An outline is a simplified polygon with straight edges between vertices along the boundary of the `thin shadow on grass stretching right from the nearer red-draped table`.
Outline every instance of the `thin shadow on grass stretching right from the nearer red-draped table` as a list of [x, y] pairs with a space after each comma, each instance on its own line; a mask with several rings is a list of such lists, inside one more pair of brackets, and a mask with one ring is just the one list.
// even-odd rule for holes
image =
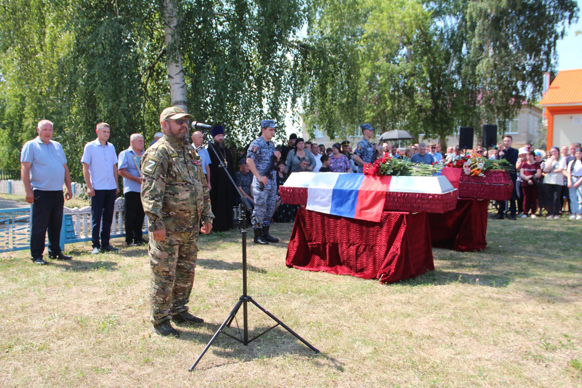
[[423, 275], [414, 277], [414, 279], [405, 279], [396, 284], [409, 286], [426, 286], [431, 284], [443, 286], [450, 283], [464, 283], [488, 287], [507, 287], [512, 280], [513, 277], [507, 275], [474, 275], [471, 273], [450, 272], [435, 269], [427, 271], [423, 273]]

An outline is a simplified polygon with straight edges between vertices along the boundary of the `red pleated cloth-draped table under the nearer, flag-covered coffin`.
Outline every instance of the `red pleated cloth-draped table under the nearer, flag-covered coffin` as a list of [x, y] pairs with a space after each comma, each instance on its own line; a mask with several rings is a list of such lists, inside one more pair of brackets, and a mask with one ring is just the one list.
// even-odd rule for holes
[[427, 213], [384, 211], [370, 222], [300, 207], [286, 264], [381, 283], [421, 275], [434, 270]]

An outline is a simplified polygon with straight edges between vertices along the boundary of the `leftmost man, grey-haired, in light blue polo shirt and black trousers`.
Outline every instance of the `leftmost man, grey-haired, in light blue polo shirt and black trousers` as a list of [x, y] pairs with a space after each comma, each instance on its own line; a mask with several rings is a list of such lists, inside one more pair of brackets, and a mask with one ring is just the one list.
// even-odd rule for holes
[[42, 259], [44, 237], [48, 232], [48, 255], [70, 260], [61, 251], [63, 222], [63, 183], [66, 198], [72, 198], [71, 178], [63, 147], [51, 140], [53, 130], [49, 120], [40, 120], [38, 137], [27, 141], [20, 152], [20, 177], [26, 190], [26, 202], [33, 204], [30, 227], [30, 254], [34, 264], [48, 264]]

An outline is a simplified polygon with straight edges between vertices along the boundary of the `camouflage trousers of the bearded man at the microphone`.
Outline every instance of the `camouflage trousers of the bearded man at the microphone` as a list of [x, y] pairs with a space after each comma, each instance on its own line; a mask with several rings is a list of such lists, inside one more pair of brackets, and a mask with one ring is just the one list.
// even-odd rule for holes
[[198, 229], [166, 232], [164, 241], [154, 241], [152, 232], [149, 234], [151, 322], [160, 323], [188, 309], [186, 304], [196, 269]]

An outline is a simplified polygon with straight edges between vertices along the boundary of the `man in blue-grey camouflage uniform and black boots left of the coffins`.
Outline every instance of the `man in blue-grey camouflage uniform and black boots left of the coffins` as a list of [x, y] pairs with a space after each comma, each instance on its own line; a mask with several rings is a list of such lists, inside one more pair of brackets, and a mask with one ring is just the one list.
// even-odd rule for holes
[[[254, 175], [251, 184], [255, 201], [254, 213], [262, 221], [262, 228], [253, 226], [255, 244], [279, 242], [279, 239], [269, 234], [277, 196], [276, 168], [271, 170], [269, 176], [263, 175], [271, 165], [272, 155], [275, 155], [277, 161], [281, 158], [281, 152], [275, 150], [275, 144], [271, 141], [276, 127], [273, 120], [261, 120], [261, 136], [251, 142], [247, 151], [247, 164]], [[260, 182], [265, 185], [262, 191], [259, 190]]]

